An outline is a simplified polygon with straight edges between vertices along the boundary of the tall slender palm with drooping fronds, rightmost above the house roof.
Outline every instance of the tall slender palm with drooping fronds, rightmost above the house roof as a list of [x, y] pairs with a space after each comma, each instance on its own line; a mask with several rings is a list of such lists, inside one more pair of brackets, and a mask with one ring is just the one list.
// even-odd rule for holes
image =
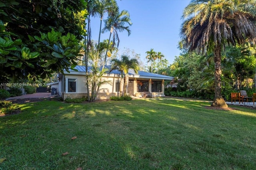
[[[110, 7], [110, 10], [108, 10], [108, 18], [105, 20], [105, 27], [102, 29], [102, 33], [107, 31], [110, 32], [108, 42], [110, 42], [110, 38], [113, 34], [113, 46], [116, 45], [116, 41], [117, 47], [119, 46], [120, 40], [118, 37], [118, 32], [123, 32], [126, 30], [128, 32], [128, 36], [130, 36], [131, 30], [129, 26], [125, 26], [126, 24], [129, 26], [132, 25], [129, 12], [127, 10], [122, 10], [120, 13], [116, 1], [112, 0], [112, 6]], [[106, 50], [104, 61], [106, 61], [107, 53], [108, 49]]]

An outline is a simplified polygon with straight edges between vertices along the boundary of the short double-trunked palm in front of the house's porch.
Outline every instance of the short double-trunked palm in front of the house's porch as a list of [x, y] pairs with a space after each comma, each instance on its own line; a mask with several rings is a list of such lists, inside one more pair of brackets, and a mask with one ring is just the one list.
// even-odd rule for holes
[[129, 81], [129, 75], [128, 71], [129, 69], [133, 69], [135, 73], [138, 73], [138, 60], [133, 58], [129, 59], [127, 55], [122, 55], [121, 59], [114, 58], [112, 59], [112, 67], [110, 71], [112, 70], [119, 70], [121, 72], [121, 82], [120, 82], [120, 93], [123, 96], [124, 95], [124, 75], [126, 77], [126, 91], [125, 93], [128, 93], [128, 81]]

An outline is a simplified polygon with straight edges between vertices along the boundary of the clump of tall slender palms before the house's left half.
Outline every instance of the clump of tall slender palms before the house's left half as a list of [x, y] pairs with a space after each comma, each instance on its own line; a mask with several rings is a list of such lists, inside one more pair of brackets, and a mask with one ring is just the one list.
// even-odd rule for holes
[[[104, 81], [102, 76], [108, 71], [108, 69], [105, 68], [105, 65], [108, 63], [108, 57], [111, 57], [112, 53], [116, 51], [116, 47], [118, 47], [120, 43], [118, 32], [127, 31], [129, 36], [131, 33], [129, 26], [132, 25], [132, 22], [128, 11], [122, 10], [120, 12], [116, 0], [89, 0], [87, 10], [89, 12], [87, 20], [88, 35], [86, 36], [84, 51], [86, 87], [87, 91], [90, 91], [91, 89], [91, 94], [87, 94], [87, 99], [88, 101], [95, 101], [97, 99], [100, 86], [105, 83], [109, 83]], [[91, 40], [91, 16], [100, 17], [100, 30], [97, 44], [92, 43]], [[106, 16], [105, 20], [104, 16]], [[103, 28], [102, 21], [104, 21]], [[126, 24], [129, 26], [126, 26]], [[106, 32], [110, 32], [109, 39], [100, 42], [101, 34]], [[89, 67], [90, 72], [88, 71]]]

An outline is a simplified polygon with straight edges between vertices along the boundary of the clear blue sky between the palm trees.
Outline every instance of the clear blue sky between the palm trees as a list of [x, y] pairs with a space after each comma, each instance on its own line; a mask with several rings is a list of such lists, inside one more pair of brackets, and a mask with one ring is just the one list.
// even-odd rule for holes
[[[152, 48], [164, 54], [164, 59], [172, 64], [175, 56], [180, 55], [178, 42], [183, 22], [181, 16], [189, 2], [190, 0], [117, 0], [120, 11], [127, 10], [132, 20], [130, 36], [127, 31], [118, 33], [120, 53], [124, 48], [134, 50], [146, 64], [146, 51]], [[97, 41], [100, 19], [92, 19], [91, 27], [92, 40]], [[109, 34], [102, 34], [101, 41], [108, 39]]]

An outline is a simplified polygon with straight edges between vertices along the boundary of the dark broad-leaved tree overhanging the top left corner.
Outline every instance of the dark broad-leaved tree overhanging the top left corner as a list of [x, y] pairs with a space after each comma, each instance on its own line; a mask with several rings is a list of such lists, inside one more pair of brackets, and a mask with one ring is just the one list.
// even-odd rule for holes
[[76, 65], [86, 2], [2, 0], [0, 6], [1, 77], [44, 78]]

